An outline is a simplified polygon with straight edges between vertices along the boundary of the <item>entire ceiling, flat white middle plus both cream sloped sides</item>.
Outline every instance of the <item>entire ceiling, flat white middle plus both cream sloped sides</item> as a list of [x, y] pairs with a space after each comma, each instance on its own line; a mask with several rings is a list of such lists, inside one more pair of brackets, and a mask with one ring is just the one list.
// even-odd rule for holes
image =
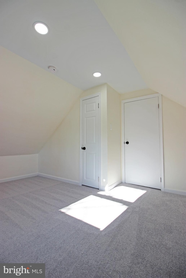
[[38, 153], [82, 90], [103, 83], [186, 106], [185, 14], [185, 0], [0, 0], [0, 156]]

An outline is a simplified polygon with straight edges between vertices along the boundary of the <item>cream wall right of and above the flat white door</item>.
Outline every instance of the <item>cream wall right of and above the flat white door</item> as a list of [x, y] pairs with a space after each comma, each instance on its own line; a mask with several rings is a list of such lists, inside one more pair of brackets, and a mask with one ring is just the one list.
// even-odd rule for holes
[[[155, 94], [151, 89], [129, 92], [121, 100]], [[164, 187], [186, 191], [186, 108], [162, 96]]]

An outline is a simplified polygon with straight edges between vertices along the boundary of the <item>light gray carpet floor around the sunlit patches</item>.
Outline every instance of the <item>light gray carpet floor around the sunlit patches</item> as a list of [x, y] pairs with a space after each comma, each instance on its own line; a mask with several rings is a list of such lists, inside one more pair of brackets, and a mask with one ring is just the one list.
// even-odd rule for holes
[[[142, 186], [135, 202], [43, 177], [0, 184], [1, 263], [45, 263], [47, 278], [186, 277], [186, 197]], [[128, 209], [104, 230], [59, 209], [94, 195]]]

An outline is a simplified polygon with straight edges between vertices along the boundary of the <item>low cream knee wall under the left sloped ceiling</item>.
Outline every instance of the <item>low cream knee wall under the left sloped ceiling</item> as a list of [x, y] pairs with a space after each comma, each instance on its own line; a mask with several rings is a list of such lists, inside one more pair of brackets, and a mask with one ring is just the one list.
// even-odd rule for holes
[[38, 154], [0, 156], [0, 180], [38, 172]]

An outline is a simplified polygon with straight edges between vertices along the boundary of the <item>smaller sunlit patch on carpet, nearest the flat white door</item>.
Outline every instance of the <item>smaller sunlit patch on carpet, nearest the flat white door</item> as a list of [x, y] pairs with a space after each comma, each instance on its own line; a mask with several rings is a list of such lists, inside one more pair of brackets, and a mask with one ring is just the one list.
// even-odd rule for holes
[[131, 188], [127, 186], [117, 186], [110, 191], [101, 191], [98, 194], [111, 196], [113, 198], [124, 200], [127, 202], [135, 202], [140, 196], [142, 196], [146, 190]]

